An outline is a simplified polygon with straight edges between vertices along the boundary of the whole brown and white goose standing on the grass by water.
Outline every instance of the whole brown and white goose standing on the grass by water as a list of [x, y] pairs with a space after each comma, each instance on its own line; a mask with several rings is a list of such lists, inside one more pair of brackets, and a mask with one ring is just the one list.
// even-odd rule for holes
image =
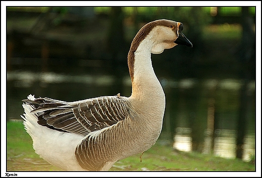
[[162, 130], [165, 94], [151, 53], [176, 45], [192, 47], [183, 24], [161, 19], [144, 25], [127, 55], [132, 94], [76, 102], [22, 100], [23, 124], [35, 152], [63, 170], [109, 170], [118, 160], [152, 147]]

